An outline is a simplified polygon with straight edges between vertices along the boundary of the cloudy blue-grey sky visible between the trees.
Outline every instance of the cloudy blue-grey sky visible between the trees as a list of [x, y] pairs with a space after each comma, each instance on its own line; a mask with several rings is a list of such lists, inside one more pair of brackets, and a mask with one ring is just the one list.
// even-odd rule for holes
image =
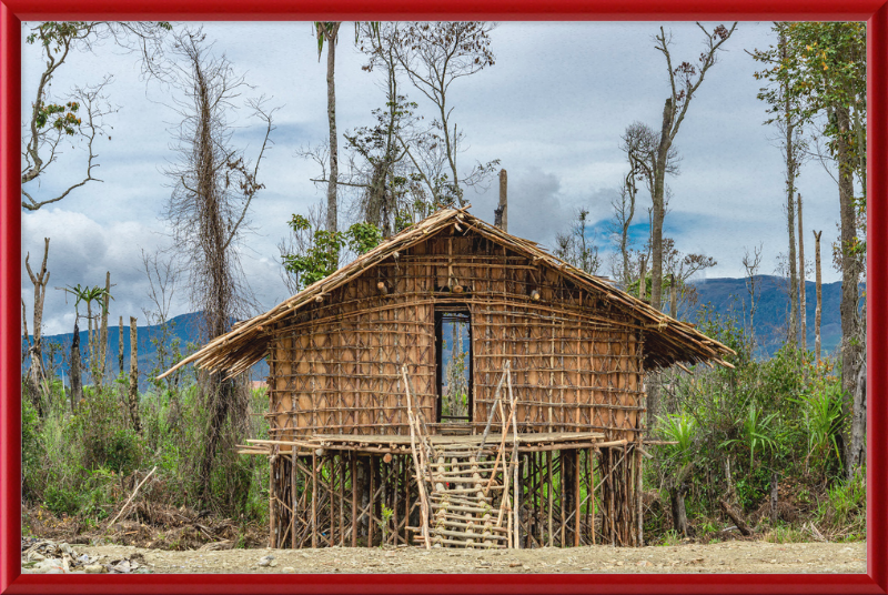
[[[712, 28], [714, 23], [709, 23]], [[22, 38], [31, 23], [23, 24]], [[673, 60], [696, 61], [703, 49], [694, 23], [666, 23], [673, 39]], [[464, 164], [500, 159], [508, 171], [509, 232], [551, 246], [555, 234], [569, 225], [579, 208], [593, 221], [591, 239], [607, 250], [610, 199], [626, 172], [618, 149], [625, 128], [634, 121], [658, 128], [668, 79], [663, 54], [654, 48], [657, 23], [513, 23], [492, 32], [495, 65], [452, 88], [453, 121], [467, 137]], [[371, 110], [384, 95], [377, 73], [362, 71], [363, 57], [352, 41], [353, 28], [343, 26], [337, 48], [336, 97], [340, 133], [372, 121]], [[324, 199], [310, 178], [316, 165], [296, 155], [301, 147], [327, 135], [325, 61], [319, 62], [310, 23], [209, 23], [209, 39], [254, 85], [248, 94], [265, 94], [275, 113], [274, 147], [263, 161], [265, 184], [253, 202], [253, 231], [241, 256], [248, 281], [263, 309], [287, 296], [281, 281], [276, 244], [286, 234], [293, 213], [305, 213]], [[784, 177], [776, 129], [763, 125], [765, 107], [756, 99], [760, 87], [753, 77], [757, 63], [746, 50], [764, 49], [775, 40], [769, 23], [741, 22], [725, 43], [719, 62], [707, 73], [682, 124], [676, 147], [680, 175], [668, 180], [673, 190], [666, 215], [666, 235], [685, 253], [705, 253], [718, 265], [709, 278], [743, 276], [745, 249], [764, 245], [761, 273], [773, 273], [779, 253], [787, 251]], [[39, 49], [22, 46], [22, 108], [33, 101], [42, 70]], [[179, 118], [170, 105], [170, 90], [140, 78], [138, 57], [112, 44], [71, 56], [52, 87], [57, 99], [75, 84], [113, 75], [107, 88], [119, 109], [105, 121], [111, 140], [97, 141], [103, 182], [72, 192], [63, 201], [37, 212], [22, 212], [22, 298], [31, 316], [33, 289], [24, 270], [42, 254], [42, 239], [51, 238], [44, 332], [70, 332], [73, 303], [52, 288], [104, 283], [111, 271], [111, 320], [139, 316], [149, 307], [141, 251], [168, 248], [163, 208], [170, 195], [163, 169], [174, 159], [171, 128]], [[404, 81], [411, 99], [428, 112], [418, 92]], [[412, 92], [411, 92], [412, 91]], [[23, 111], [23, 113], [24, 113]], [[262, 130], [236, 113], [234, 141], [248, 157], [259, 149]], [[39, 182], [37, 195], [50, 196], [82, 175], [85, 153], [74, 144]], [[39, 184], [39, 188], [34, 188]], [[839, 279], [829, 266], [828, 246], [837, 235], [838, 191], [817, 162], [808, 163], [799, 180], [805, 199], [807, 253], [813, 258], [810, 230], [823, 230], [824, 281]], [[472, 212], [493, 220], [496, 184], [468, 194]], [[646, 219], [649, 196], [640, 204]], [[347, 209], [343, 205], [341, 209]], [[605, 271], [606, 273], [606, 271]], [[180, 288], [172, 314], [192, 310]]]

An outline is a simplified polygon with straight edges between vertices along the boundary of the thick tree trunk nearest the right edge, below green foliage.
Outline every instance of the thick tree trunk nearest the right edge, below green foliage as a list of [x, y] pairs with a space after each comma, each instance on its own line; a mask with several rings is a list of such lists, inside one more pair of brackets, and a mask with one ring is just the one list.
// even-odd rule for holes
[[[859, 262], [852, 250], [857, 244], [857, 213], [854, 203], [854, 163], [850, 148], [848, 147], [848, 108], [835, 108], [839, 133], [836, 137], [839, 169], [839, 214], [841, 222], [841, 389], [846, 395], [842, 403], [845, 414], [852, 418], [852, 399], [857, 386], [858, 369], [860, 366], [861, 347], [857, 337], [857, 303], [859, 281]], [[851, 460], [850, 436], [848, 430], [842, 431], [842, 441], [846, 448], [846, 464], [849, 475], [854, 473], [856, 462]]]

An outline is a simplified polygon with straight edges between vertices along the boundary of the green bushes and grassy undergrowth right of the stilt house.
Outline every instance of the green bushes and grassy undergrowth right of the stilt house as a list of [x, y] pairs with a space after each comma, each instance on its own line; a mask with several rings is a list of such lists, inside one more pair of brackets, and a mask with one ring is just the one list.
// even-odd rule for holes
[[[769, 360], [751, 356], [737, 321], [700, 310], [698, 326], [737, 352], [730, 367], [667, 371], [659, 382], [667, 413], [653, 425], [646, 488], [659, 505], [645, 518], [648, 543], [676, 539], [664, 485], [685, 464], [690, 531], [712, 539], [733, 523], [719, 502], [737, 507], [760, 537], [776, 543], [866, 538], [866, 481], [846, 480], [838, 363], [785, 346]], [[771, 497], [776, 496], [776, 506]], [[814, 524], [815, 530], [808, 528]], [[670, 533], [672, 532], [672, 533]]]

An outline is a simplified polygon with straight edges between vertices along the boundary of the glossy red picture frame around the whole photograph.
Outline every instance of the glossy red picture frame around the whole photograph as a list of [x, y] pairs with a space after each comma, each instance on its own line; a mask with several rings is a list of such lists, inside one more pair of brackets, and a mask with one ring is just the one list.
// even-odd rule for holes
[[[868, 64], [867, 574], [22, 575], [21, 22], [24, 20], [858, 20]], [[888, 0], [0, 0], [0, 593], [886, 593]]]

